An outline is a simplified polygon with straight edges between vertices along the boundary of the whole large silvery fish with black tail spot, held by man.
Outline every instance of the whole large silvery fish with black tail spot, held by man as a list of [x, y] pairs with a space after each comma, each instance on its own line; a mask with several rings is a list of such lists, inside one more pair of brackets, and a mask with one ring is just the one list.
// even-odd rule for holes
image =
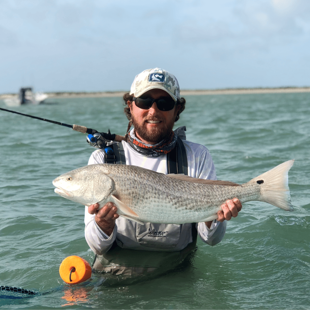
[[288, 171], [293, 163], [284, 162], [241, 185], [117, 164], [84, 166], [60, 175], [53, 184], [60, 196], [86, 206], [112, 201], [120, 216], [139, 223], [184, 224], [216, 219], [221, 205], [234, 197], [292, 211]]

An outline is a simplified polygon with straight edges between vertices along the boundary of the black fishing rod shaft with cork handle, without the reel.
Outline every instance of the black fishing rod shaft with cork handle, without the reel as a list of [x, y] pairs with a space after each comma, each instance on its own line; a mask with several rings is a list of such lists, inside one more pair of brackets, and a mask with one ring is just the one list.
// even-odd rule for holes
[[[61, 123], [61, 122], [51, 121], [49, 119], [42, 118], [42, 117], [37, 117], [37, 116], [33, 116], [33, 115], [29, 115], [29, 114], [24, 114], [24, 113], [12, 111], [12, 110], [7, 110], [7, 109], [4, 109], [4, 108], [0, 108], [0, 110], [7, 111], [7, 112], [10, 112], [10, 113], [19, 114], [19, 115], [23, 115], [23, 116], [27, 116], [27, 117], [31, 117], [31, 118], [36, 118], [36, 119], [39, 119], [40, 121], [50, 122], [50, 123], [53, 123], [53, 124], [56, 124], [56, 125], [66, 126], [66, 127], [72, 128], [75, 131], [82, 132], [83, 134], [88, 133], [90, 135], [94, 135], [95, 133], [99, 133], [95, 129], [87, 128], [85, 126], [74, 125], [74, 124], [73, 125], [69, 125], [69, 124], [65, 124], [65, 123]], [[111, 134], [110, 130], [108, 132], [100, 132], [100, 134], [106, 140], [117, 141], [117, 142], [121, 142], [122, 140], [124, 140], [123, 136], [116, 135], [116, 134]]]

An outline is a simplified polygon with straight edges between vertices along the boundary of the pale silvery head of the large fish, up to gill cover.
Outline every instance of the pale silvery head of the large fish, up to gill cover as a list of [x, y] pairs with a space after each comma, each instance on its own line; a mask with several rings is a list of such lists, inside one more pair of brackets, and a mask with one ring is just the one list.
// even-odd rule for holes
[[106, 199], [114, 189], [114, 181], [92, 166], [95, 165], [69, 171], [54, 179], [55, 193], [86, 206]]

